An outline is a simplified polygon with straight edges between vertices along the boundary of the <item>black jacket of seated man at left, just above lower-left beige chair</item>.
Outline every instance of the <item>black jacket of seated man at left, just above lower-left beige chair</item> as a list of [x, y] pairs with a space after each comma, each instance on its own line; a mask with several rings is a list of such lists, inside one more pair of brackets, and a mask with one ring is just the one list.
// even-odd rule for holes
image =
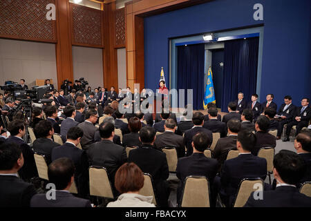
[[50, 164], [50, 162], [52, 162], [52, 151], [56, 146], [60, 146], [60, 144], [57, 144], [48, 138], [38, 138], [33, 142], [32, 148], [36, 153], [46, 155], [46, 164]]

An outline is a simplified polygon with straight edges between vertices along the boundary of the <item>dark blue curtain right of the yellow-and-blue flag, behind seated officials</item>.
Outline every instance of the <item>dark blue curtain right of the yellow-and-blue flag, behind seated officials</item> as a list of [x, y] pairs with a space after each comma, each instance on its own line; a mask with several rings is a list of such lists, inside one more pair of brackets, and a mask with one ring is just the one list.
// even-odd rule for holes
[[247, 102], [256, 93], [258, 42], [258, 37], [225, 41], [221, 111], [227, 112], [239, 92]]

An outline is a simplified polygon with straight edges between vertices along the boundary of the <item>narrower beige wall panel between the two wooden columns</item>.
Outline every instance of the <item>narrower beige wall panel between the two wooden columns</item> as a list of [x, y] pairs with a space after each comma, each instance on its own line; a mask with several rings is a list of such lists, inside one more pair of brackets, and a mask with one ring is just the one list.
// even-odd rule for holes
[[80, 77], [88, 81], [92, 90], [104, 84], [102, 49], [73, 46], [73, 79]]

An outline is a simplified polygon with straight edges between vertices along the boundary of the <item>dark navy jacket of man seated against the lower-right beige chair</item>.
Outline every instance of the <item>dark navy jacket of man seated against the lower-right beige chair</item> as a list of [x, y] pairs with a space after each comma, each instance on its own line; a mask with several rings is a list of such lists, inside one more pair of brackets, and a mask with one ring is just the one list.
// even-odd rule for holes
[[238, 157], [226, 160], [220, 178], [220, 195], [226, 206], [232, 206], [238, 185], [243, 178], [267, 176], [267, 161], [265, 158], [256, 157], [252, 154], [242, 154]]

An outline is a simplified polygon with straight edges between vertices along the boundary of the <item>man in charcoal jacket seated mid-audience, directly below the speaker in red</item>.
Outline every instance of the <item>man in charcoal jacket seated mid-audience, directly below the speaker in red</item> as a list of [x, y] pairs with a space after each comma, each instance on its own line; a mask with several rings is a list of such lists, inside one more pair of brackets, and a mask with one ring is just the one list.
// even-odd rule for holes
[[185, 156], [184, 137], [177, 135], [176, 122], [173, 119], [167, 119], [164, 123], [164, 133], [157, 136], [154, 146], [156, 148], [175, 147], [178, 157]]

